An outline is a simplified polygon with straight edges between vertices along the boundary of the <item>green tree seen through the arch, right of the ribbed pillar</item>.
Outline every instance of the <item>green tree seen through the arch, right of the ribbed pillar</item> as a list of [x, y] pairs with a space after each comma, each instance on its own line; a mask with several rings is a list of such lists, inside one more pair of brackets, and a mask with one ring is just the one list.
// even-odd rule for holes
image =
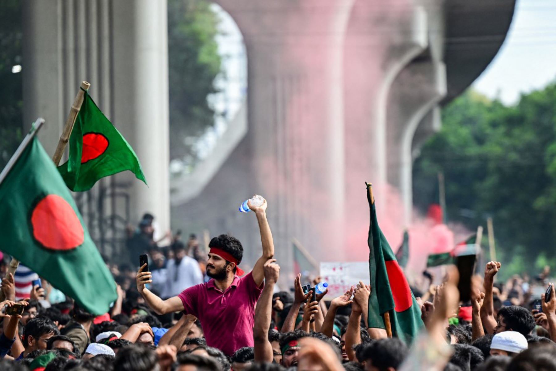
[[168, 0], [170, 157], [191, 154], [185, 138], [214, 123], [207, 96], [220, 72], [215, 36], [219, 19], [205, 0]]

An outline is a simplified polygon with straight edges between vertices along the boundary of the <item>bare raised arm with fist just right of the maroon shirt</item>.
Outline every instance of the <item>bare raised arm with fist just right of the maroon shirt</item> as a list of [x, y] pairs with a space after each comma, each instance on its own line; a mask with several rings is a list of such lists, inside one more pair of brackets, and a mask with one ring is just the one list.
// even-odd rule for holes
[[276, 259], [267, 260], [264, 265], [265, 288], [262, 289], [259, 301], [255, 308], [255, 327], [253, 338], [255, 340], [255, 363], [272, 363], [274, 352], [269, 342], [269, 329], [272, 317], [272, 294], [274, 285], [280, 276], [280, 266]]

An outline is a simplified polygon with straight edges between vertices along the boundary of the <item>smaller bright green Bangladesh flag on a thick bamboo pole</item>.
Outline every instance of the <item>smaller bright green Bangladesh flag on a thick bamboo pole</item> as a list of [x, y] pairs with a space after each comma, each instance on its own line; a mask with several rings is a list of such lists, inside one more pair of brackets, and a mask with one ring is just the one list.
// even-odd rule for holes
[[147, 184], [135, 152], [87, 92], [69, 137], [69, 159], [58, 170], [75, 192], [88, 191], [99, 179], [125, 170]]

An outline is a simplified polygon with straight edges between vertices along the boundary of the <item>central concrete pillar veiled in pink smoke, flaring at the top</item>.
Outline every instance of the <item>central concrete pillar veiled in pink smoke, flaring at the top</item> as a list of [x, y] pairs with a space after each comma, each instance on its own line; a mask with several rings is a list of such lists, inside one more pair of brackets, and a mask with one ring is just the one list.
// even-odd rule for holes
[[218, 3], [246, 44], [250, 182], [271, 202], [276, 244], [288, 247], [277, 255], [290, 258], [294, 236], [330, 255], [343, 237], [342, 47], [352, 0]]

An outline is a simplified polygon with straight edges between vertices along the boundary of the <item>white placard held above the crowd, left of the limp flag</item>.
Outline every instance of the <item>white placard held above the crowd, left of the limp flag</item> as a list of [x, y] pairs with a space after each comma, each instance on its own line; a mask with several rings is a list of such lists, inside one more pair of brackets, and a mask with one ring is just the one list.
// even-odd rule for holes
[[357, 285], [359, 281], [369, 284], [369, 262], [321, 262], [320, 276], [322, 280], [328, 283], [326, 299], [333, 299], [343, 295], [351, 286]]

